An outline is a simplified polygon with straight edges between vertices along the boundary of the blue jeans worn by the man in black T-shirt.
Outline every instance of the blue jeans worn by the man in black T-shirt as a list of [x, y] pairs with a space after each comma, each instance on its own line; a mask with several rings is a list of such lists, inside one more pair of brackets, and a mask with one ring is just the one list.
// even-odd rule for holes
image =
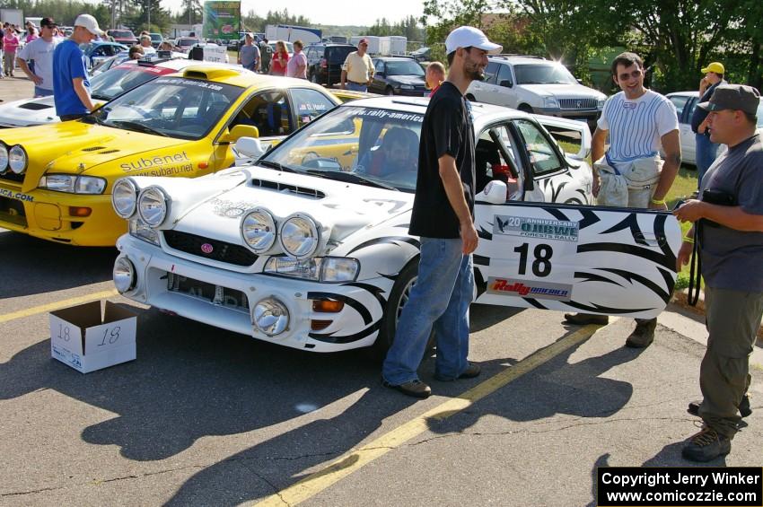
[[418, 379], [432, 328], [437, 338], [434, 375], [457, 378], [469, 363], [469, 304], [474, 292], [470, 255], [460, 239], [421, 238], [418, 279], [398, 321], [395, 341], [382, 366], [392, 385]]

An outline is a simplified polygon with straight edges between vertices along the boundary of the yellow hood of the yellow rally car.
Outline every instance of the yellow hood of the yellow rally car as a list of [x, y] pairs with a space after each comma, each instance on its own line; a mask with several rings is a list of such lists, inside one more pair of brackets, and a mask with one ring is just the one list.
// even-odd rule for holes
[[[184, 139], [131, 132], [118, 128], [89, 125], [81, 121], [51, 123], [38, 127], [0, 130], [0, 140], [7, 145], [21, 144], [29, 157], [22, 189], [37, 186], [45, 172], [102, 175], [101, 164], [110, 162], [116, 171], [120, 162], [133, 160], [179, 144]], [[146, 155], [147, 156], [147, 155]]]

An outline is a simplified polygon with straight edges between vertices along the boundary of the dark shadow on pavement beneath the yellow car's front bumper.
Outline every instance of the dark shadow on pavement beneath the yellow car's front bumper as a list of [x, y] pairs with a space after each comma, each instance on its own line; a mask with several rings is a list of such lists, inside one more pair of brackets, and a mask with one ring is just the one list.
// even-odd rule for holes
[[0, 233], [0, 299], [50, 293], [111, 279], [118, 251], [73, 247], [16, 232]]

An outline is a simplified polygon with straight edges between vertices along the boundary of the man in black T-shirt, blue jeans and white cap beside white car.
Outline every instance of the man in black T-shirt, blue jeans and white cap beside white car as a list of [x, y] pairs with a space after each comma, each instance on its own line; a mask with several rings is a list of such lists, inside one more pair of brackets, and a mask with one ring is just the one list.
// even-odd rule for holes
[[488, 53], [500, 53], [482, 31], [469, 26], [445, 39], [448, 78], [429, 101], [421, 127], [416, 197], [409, 233], [419, 236], [417, 283], [403, 307], [395, 339], [382, 366], [382, 384], [415, 397], [432, 393], [417, 370], [434, 328], [436, 380], [477, 377], [469, 363], [469, 304], [474, 290], [475, 145], [469, 83], [483, 79]]

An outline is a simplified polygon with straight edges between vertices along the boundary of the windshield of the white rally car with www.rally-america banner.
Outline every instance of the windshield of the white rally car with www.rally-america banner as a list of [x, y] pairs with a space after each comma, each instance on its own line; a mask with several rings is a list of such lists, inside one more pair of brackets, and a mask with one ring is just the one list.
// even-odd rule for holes
[[423, 113], [343, 106], [288, 137], [260, 163], [380, 188], [416, 189]]

